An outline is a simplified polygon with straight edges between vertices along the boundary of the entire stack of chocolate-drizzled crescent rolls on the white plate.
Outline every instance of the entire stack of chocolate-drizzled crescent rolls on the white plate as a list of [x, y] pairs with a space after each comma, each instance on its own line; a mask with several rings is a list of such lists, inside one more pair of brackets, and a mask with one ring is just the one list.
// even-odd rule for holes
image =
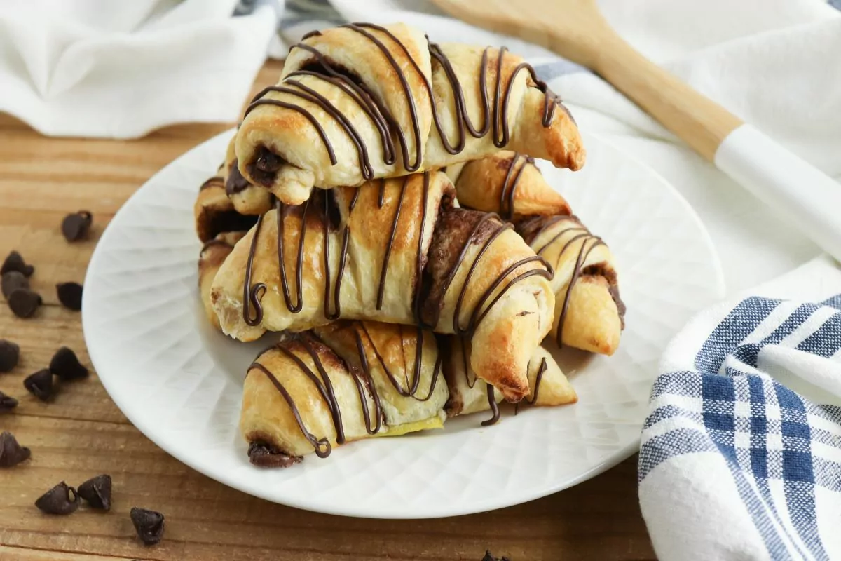
[[209, 321], [281, 334], [246, 373], [251, 463], [577, 400], [542, 342], [610, 355], [624, 306], [608, 246], [536, 157], [577, 170], [584, 147], [505, 48], [405, 24], [292, 47], [195, 204]]

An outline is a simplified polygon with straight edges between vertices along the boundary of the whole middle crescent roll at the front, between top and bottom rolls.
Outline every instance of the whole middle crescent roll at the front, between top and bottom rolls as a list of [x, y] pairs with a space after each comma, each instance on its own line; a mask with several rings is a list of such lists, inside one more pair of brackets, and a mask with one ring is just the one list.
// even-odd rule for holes
[[[549, 268], [493, 214], [450, 209], [441, 172], [277, 203], [220, 267], [211, 301], [241, 341], [339, 318], [468, 335], [472, 366], [507, 400], [551, 329]], [[282, 256], [283, 259], [278, 259]]]

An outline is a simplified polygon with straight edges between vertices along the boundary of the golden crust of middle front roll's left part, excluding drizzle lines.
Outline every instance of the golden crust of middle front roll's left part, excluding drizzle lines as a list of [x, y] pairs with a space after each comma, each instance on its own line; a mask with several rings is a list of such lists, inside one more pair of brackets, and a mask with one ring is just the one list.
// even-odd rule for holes
[[[383, 205], [379, 205], [380, 193]], [[426, 192], [426, 197], [424, 193]], [[355, 204], [355, 195], [358, 197]], [[402, 193], [402, 204], [400, 203]], [[283, 211], [283, 256], [290, 302], [297, 304], [297, 272], [302, 216], [307, 211], [304, 235], [301, 310], [289, 310], [283, 293], [278, 266], [278, 220], [275, 210], [262, 219], [251, 273], [251, 286], [267, 286], [261, 299], [262, 322], [247, 325], [243, 319], [243, 290], [251, 241], [256, 228], [240, 241], [214, 282], [212, 299], [226, 333], [242, 341], [251, 341], [264, 331], [304, 331], [329, 322], [325, 314], [325, 294], [330, 312], [335, 311], [335, 287], [341, 268], [345, 229], [348, 229], [344, 273], [340, 283], [341, 317], [414, 323], [414, 294], [424, 265], [435, 217], [445, 195], [452, 196], [447, 176], [431, 172], [428, 182], [423, 174], [374, 181], [359, 189], [334, 189], [329, 195], [338, 209], [338, 217], [328, 217], [325, 234], [324, 193], [313, 198], [309, 207], [287, 207]], [[328, 205], [331, 203], [328, 201]], [[353, 210], [351, 211], [351, 207]], [[389, 252], [389, 239], [397, 209], [400, 209]], [[422, 220], [426, 215], [426, 220]], [[338, 224], [336, 224], [338, 219]], [[325, 235], [330, 254], [330, 275], [325, 267]], [[418, 267], [418, 246], [421, 269]], [[388, 266], [384, 267], [388, 256]], [[382, 304], [378, 306], [380, 279], [383, 279]]]

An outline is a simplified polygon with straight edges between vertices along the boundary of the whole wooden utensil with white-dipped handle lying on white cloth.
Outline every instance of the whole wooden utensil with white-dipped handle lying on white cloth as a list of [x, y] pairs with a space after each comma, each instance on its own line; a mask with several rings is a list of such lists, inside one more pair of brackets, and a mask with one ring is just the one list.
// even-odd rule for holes
[[433, 0], [458, 19], [589, 67], [841, 260], [841, 185], [649, 61], [595, 0]]

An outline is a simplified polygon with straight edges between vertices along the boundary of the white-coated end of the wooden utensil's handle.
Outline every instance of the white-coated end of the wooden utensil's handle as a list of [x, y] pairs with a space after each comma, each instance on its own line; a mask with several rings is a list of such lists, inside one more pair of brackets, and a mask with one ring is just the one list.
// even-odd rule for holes
[[749, 124], [727, 135], [714, 161], [841, 261], [841, 183]]

